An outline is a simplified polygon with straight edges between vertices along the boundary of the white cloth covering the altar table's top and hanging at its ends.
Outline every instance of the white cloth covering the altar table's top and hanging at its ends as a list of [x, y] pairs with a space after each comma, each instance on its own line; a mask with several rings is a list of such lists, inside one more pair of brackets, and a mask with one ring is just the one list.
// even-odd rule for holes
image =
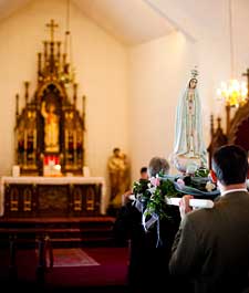
[[65, 176], [65, 177], [43, 177], [43, 176], [20, 176], [8, 177], [3, 176], [0, 179], [0, 217], [4, 213], [4, 185], [6, 184], [35, 184], [35, 185], [69, 185], [69, 184], [101, 184], [101, 213], [105, 213], [105, 196], [106, 185], [104, 177], [82, 177], [82, 176]]

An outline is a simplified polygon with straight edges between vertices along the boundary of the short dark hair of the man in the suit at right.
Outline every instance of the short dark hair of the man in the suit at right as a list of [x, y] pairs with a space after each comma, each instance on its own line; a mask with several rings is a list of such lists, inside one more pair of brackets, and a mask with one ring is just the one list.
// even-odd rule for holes
[[212, 170], [225, 186], [245, 182], [248, 172], [247, 151], [238, 145], [218, 148], [212, 156]]

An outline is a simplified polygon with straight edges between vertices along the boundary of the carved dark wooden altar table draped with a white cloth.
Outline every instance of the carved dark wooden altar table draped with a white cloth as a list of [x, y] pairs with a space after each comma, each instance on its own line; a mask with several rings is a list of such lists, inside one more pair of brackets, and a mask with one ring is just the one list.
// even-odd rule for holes
[[103, 177], [1, 177], [0, 216], [100, 216], [104, 197]]

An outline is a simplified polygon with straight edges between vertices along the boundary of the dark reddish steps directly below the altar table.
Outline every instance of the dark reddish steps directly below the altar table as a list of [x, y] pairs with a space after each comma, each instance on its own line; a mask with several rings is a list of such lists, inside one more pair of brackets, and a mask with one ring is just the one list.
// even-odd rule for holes
[[56, 245], [113, 242], [111, 217], [86, 218], [44, 218], [0, 220], [0, 245], [9, 244], [12, 238], [17, 243], [35, 244], [35, 240], [48, 236]]

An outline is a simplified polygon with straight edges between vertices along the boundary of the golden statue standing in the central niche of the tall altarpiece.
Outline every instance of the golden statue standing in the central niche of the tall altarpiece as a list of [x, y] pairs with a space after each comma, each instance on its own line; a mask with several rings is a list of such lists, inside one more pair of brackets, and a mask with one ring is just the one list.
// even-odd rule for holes
[[41, 114], [44, 118], [44, 149], [59, 151], [59, 115], [53, 103], [42, 102]]

